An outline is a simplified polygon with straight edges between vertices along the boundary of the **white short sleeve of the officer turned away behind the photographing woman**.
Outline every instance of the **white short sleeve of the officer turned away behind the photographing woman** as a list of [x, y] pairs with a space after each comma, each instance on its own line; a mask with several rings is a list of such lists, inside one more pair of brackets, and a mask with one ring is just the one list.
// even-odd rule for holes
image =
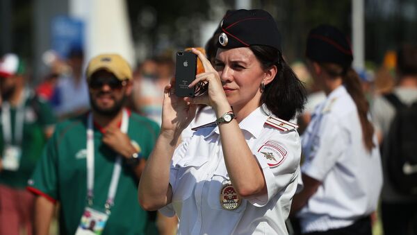
[[322, 182], [343, 155], [349, 143], [349, 133], [331, 115], [323, 116], [320, 130], [313, 133], [314, 146], [302, 165], [302, 173]]

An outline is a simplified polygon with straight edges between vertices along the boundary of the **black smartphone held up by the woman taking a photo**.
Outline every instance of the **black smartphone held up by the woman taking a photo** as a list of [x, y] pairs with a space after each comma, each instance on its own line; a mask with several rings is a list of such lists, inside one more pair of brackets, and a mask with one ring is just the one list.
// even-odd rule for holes
[[188, 87], [197, 73], [197, 55], [191, 51], [178, 51], [175, 63], [175, 95], [194, 97], [194, 87]]

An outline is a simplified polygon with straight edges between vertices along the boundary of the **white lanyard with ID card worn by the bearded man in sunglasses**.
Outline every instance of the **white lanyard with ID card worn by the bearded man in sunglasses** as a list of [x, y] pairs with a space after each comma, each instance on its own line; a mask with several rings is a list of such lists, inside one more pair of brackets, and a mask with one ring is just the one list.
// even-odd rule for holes
[[[129, 125], [129, 117], [126, 110], [123, 110], [122, 126], [120, 129], [123, 133], [127, 132]], [[111, 177], [110, 187], [108, 189], [108, 196], [104, 209], [93, 208], [92, 200], [94, 198], [94, 132], [92, 130], [92, 114], [88, 115], [88, 129], [87, 129], [87, 199], [88, 206], [85, 207], [83, 216], [76, 229], [75, 235], [99, 235], [103, 232], [104, 227], [111, 214], [111, 207], [113, 207], [113, 200], [117, 191], [117, 184], [119, 183], [120, 171], [122, 170], [122, 157], [117, 156], [113, 174]]]

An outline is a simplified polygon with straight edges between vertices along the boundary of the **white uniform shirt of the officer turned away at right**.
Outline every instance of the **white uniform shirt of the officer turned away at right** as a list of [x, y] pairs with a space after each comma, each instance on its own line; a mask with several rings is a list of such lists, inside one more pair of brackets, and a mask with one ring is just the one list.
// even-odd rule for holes
[[382, 186], [379, 149], [366, 150], [357, 107], [345, 87], [318, 105], [302, 150], [302, 173], [322, 182], [297, 214], [302, 232], [347, 227], [375, 211]]

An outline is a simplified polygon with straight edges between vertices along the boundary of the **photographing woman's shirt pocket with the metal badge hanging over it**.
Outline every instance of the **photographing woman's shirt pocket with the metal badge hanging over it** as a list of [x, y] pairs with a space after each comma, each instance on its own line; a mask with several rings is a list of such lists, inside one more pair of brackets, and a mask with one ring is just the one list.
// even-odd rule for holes
[[220, 193], [227, 182], [230, 183], [229, 174], [227, 173], [226, 166], [221, 164], [208, 182], [208, 206], [211, 209], [221, 210], [231, 214], [240, 214], [246, 208], [246, 200], [243, 200], [243, 198], [240, 198], [240, 205], [234, 210], [228, 210], [222, 207]]

